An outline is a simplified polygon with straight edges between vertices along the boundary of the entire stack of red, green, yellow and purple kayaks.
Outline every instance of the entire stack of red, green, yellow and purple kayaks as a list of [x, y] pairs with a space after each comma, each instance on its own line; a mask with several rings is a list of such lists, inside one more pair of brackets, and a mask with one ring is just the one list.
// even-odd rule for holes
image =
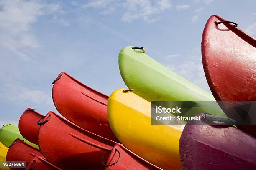
[[[256, 100], [256, 40], [236, 26], [217, 15], [206, 23], [202, 60], [213, 95], [143, 47], [124, 47], [119, 70], [128, 90], [108, 97], [61, 72], [52, 82], [52, 98], [63, 117], [27, 108], [18, 127], [1, 128], [0, 161], [24, 161], [24, 170], [255, 170], [255, 128], [232, 126], [240, 121], [237, 115], [247, 121], [255, 114], [230, 108]], [[155, 101], [193, 102], [198, 107], [166, 115], [199, 120], [154, 125]]]

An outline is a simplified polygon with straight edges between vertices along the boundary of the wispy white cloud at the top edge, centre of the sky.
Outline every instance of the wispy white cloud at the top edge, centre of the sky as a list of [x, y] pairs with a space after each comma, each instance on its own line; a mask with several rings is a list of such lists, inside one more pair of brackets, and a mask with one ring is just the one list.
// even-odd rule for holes
[[155, 22], [159, 19], [160, 13], [170, 9], [172, 3], [169, 0], [93, 0], [81, 6], [82, 9], [95, 8], [100, 9], [101, 14], [111, 14], [116, 8], [122, 8], [121, 20], [123, 22], [132, 22], [142, 19], [146, 22]]

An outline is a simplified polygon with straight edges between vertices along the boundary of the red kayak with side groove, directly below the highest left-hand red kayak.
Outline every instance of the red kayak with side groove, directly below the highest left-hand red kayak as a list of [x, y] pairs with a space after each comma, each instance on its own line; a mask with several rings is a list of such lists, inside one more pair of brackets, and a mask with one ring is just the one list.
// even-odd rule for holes
[[104, 169], [103, 155], [116, 142], [74, 125], [54, 112], [42, 120], [38, 134], [40, 150], [46, 160], [62, 169]]

